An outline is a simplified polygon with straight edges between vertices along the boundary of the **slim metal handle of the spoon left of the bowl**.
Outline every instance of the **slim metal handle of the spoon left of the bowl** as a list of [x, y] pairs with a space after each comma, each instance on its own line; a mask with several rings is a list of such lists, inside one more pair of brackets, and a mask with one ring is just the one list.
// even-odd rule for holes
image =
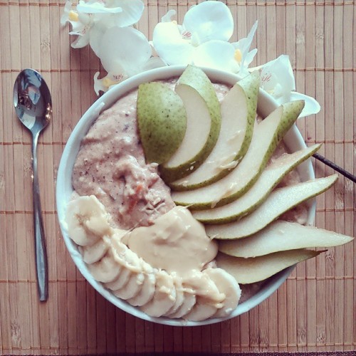
[[32, 137], [32, 168], [33, 168], [33, 222], [35, 229], [35, 252], [36, 252], [36, 273], [38, 295], [41, 301], [48, 298], [48, 271], [47, 271], [47, 253], [45, 236], [43, 230], [43, 221], [41, 213], [40, 189], [38, 184], [37, 172], [37, 142], [39, 132], [34, 133]]

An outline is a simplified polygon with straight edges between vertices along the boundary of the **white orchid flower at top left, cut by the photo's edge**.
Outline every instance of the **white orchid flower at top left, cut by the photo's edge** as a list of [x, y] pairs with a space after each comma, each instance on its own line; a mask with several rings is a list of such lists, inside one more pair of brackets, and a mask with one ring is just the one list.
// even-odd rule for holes
[[70, 22], [70, 35], [78, 38], [71, 44], [82, 48], [88, 43], [98, 54], [98, 42], [105, 30], [113, 26], [132, 26], [140, 20], [145, 8], [142, 0], [80, 0], [78, 5], [67, 1], [61, 23]]

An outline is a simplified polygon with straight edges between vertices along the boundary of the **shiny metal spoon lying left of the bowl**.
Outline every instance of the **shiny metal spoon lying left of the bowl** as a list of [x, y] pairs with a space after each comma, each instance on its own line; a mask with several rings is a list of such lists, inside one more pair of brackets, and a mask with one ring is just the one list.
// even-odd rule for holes
[[45, 236], [41, 214], [40, 190], [37, 172], [37, 142], [41, 131], [52, 117], [52, 100], [48, 86], [33, 69], [19, 73], [14, 85], [14, 106], [17, 116], [32, 134], [33, 222], [35, 232], [36, 273], [38, 295], [41, 301], [48, 298], [48, 271]]

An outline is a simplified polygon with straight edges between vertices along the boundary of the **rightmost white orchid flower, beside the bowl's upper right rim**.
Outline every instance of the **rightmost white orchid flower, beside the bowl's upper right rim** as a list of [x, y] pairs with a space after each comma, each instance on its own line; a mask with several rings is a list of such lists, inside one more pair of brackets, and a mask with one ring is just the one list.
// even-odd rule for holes
[[262, 68], [261, 88], [270, 93], [278, 104], [293, 100], [304, 100], [305, 106], [299, 117], [317, 114], [320, 111], [318, 101], [295, 91], [295, 78], [289, 56], [279, 56], [259, 68]]

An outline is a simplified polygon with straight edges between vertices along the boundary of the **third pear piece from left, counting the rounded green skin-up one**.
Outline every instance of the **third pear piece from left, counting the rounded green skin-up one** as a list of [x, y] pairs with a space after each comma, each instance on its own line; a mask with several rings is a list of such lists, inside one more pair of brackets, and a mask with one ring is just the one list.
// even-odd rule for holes
[[175, 191], [204, 187], [236, 167], [250, 145], [256, 118], [260, 76], [253, 72], [231, 88], [221, 102], [221, 129], [214, 149], [187, 177], [169, 184]]

